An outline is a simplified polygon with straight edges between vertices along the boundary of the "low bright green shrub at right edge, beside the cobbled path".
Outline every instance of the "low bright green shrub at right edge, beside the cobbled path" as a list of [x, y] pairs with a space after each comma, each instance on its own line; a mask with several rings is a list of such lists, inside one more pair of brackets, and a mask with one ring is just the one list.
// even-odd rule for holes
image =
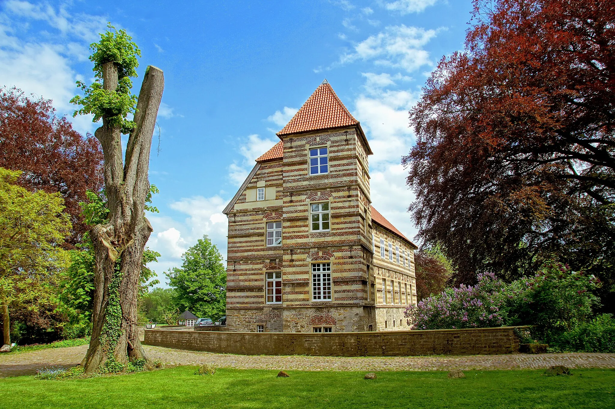
[[553, 351], [615, 352], [615, 319], [612, 314], [602, 314], [568, 332], [552, 335], [548, 341]]

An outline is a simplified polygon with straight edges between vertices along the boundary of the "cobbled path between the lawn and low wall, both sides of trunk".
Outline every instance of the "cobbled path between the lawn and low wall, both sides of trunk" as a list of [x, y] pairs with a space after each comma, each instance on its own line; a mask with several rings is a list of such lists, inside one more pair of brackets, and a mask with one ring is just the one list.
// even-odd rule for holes
[[[551, 365], [569, 368], [615, 368], [615, 354], [510, 354], [427, 357], [309, 357], [304, 355], [231, 355], [144, 346], [148, 356], [170, 365], [213, 363], [218, 368], [304, 371], [436, 371], [541, 369]], [[0, 355], [0, 377], [32, 375], [38, 368], [74, 367], [81, 362], [87, 345], [42, 349]]]

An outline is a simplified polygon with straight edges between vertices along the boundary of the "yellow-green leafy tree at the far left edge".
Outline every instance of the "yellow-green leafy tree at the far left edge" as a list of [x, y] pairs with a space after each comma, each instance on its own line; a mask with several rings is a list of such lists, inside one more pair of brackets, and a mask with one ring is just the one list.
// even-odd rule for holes
[[68, 266], [62, 244], [71, 232], [62, 196], [16, 185], [20, 174], [0, 168], [0, 304], [6, 344], [10, 343], [9, 306], [31, 298], [41, 281]]

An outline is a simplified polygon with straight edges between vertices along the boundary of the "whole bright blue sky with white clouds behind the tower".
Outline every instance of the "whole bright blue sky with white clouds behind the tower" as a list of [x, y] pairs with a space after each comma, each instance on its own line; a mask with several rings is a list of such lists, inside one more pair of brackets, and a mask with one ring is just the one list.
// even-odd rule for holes
[[[164, 70], [149, 173], [160, 213], [148, 216], [148, 245], [162, 253], [152, 268], [164, 282], [203, 234], [226, 256], [221, 210], [325, 77], [375, 153], [373, 205], [414, 236], [400, 165], [414, 143], [408, 109], [438, 60], [462, 49], [471, 9], [469, 0], [2, 1], [0, 85], [53, 99], [71, 116], [74, 83], [92, 81], [88, 46], [106, 22], [141, 49], [135, 93], [147, 65]], [[73, 124], [97, 127], [89, 117]]]

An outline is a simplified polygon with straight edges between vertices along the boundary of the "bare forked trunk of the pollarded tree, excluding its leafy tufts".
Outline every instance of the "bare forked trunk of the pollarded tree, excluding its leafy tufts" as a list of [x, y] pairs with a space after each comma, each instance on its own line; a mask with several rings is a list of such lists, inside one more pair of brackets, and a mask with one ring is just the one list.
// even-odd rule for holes
[[[117, 66], [103, 66], [103, 88], [117, 88]], [[149, 192], [149, 151], [156, 116], [164, 89], [162, 70], [148, 66], [137, 102], [135, 129], [130, 133], [122, 161], [121, 129], [103, 116], [95, 136], [103, 148], [107, 223], [92, 228], [95, 252], [95, 295], [92, 311], [92, 339], [82, 365], [86, 373], [101, 365], [135, 360], [149, 361], [138, 337], [137, 296], [143, 249], [152, 232], [145, 217]], [[121, 309], [121, 312], [117, 308]]]

